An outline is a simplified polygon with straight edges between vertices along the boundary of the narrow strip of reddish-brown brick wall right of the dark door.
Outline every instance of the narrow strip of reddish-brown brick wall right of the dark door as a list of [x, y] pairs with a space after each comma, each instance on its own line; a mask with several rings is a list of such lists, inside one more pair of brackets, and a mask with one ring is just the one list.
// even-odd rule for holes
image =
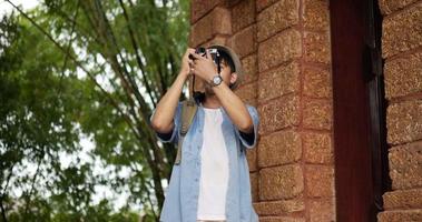
[[379, 3], [393, 189], [379, 221], [422, 221], [422, 1]]

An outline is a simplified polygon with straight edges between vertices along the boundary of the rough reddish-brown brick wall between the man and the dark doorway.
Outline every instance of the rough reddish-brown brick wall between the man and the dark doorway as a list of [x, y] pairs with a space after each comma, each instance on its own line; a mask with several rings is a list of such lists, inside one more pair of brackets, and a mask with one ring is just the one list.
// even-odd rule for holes
[[334, 221], [327, 0], [193, 0], [189, 46], [223, 43], [247, 75], [236, 93], [261, 115], [248, 151], [262, 222]]

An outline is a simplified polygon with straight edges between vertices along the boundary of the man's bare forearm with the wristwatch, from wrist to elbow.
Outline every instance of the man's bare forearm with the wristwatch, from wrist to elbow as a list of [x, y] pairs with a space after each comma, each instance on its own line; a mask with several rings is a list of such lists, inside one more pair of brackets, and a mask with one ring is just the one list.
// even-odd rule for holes
[[252, 132], [252, 117], [242, 99], [225, 82], [213, 87], [213, 90], [237, 129], [246, 133]]

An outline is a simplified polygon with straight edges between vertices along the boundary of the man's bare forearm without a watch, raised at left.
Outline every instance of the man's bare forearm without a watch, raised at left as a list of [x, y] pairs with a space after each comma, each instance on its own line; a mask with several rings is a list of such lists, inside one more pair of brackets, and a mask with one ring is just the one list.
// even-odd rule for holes
[[173, 119], [187, 78], [187, 74], [179, 73], [171, 87], [159, 100], [151, 119], [151, 125], [157, 131], [169, 132], [173, 129]]

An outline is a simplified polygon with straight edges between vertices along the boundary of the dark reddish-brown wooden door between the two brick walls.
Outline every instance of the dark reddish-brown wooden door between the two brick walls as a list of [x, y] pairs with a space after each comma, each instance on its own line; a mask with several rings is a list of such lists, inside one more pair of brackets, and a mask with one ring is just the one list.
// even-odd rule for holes
[[330, 1], [336, 221], [376, 221], [390, 189], [376, 0]]

